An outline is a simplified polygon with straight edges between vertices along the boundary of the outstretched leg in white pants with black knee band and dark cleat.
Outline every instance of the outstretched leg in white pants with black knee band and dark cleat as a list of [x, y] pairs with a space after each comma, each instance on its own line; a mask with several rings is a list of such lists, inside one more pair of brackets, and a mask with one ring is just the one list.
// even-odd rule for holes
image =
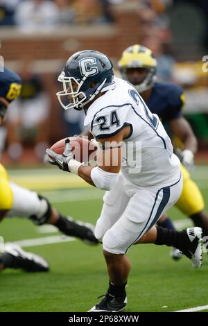
[[77, 237], [90, 244], [98, 243], [94, 237], [93, 225], [62, 216], [51, 207], [49, 200], [35, 191], [24, 189], [12, 182], [9, 185], [12, 191], [12, 207], [6, 216], [30, 218], [37, 225], [50, 223], [68, 236]]

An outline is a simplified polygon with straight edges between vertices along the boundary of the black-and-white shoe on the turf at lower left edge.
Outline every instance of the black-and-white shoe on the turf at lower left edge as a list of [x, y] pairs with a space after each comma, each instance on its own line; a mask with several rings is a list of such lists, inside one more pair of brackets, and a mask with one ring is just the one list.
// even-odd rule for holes
[[21, 268], [26, 272], [48, 272], [49, 264], [39, 255], [26, 252], [15, 243], [6, 243], [3, 255], [12, 256], [11, 268]]

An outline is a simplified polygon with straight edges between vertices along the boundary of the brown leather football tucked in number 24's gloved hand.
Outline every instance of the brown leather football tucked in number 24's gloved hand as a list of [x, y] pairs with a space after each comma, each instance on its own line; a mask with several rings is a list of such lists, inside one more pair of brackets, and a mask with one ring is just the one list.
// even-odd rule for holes
[[[86, 139], [85, 137], [67, 137], [70, 139], [71, 151], [74, 155], [74, 159], [79, 162], [89, 162], [90, 160], [95, 160], [97, 146]], [[63, 138], [57, 141], [51, 150], [57, 154], [64, 153], [65, 139]]]

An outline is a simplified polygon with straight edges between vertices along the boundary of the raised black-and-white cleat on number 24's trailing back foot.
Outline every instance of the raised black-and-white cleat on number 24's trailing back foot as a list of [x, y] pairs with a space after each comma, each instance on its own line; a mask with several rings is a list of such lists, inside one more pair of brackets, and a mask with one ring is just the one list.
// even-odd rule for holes
[[184, 248], [179, 248], [180, 251], [191, 259], [191, 264], [195, 268], [202, 266], [202, 229], [187, 228], [183, 230], [185, 237]]

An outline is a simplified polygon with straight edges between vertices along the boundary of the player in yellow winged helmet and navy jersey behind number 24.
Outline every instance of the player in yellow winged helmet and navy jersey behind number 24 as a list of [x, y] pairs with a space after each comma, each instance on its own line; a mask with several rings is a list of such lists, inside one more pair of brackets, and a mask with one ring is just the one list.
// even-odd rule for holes
[[[191, 180], [189, 174], [194, 166], [197, 139], [188, 121], [182, 116], [183, 89], [174, 83], [156, 81], [157, 61], [153, 52], [145, 46], [139, 44], [129, 46], [123, 51], [118, 65], [122, 78], [135, 86], [150, 111], [156, 113], [162, 123], [168, 124], [172, 135], [182, 141], [182, 151], [176, 148], [176, 153], [179, 154], [182, 162], [184, 185], [175, 207], [189, 216], [194, 225], [202, 228], [204, 235], [208, 235], [208, 214], [204, 211], [205, 203], [200, 189], [196, 182]], [[162, 216], [157, 223], [164, 228], [174, 229], [171, 220], [166, 215]], [[173, 250], [172, 255], [174, 259], [181, 257], [178, 250]]]

